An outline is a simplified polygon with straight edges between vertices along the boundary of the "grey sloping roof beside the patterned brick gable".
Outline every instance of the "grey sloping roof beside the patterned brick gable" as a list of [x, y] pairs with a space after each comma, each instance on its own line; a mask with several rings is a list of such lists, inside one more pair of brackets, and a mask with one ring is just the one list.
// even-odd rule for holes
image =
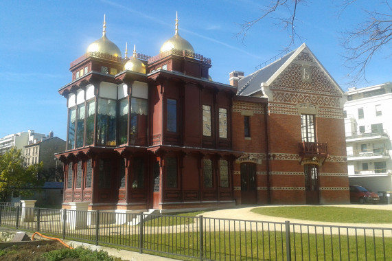
[[286, 63], [294, 52], [297, 49], [289, 52], [279, 60], [275, 60], [275, 62], [270, 63], [266, 67], [255, 71], [254, 73], [249, 74], [238, 81], [238, 95], [251, 95], [251, 93], [255, 93], [256, 91], [260, 90], [260, 84], [262, 82], [266, 82], [273, 74], [279, 70], [279, 68]]

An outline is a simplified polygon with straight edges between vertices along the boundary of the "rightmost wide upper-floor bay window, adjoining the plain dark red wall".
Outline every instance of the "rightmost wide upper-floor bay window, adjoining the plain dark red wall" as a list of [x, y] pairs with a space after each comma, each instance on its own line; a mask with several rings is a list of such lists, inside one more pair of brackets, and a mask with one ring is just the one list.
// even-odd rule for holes
[[130, 144], [146, 145], [147, 115], [147, 100], [132, 98], [130, 100]]

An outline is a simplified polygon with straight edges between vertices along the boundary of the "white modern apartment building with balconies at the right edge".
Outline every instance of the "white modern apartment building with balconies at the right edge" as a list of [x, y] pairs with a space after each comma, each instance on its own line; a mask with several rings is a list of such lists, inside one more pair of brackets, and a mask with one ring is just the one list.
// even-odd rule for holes
[[392, 84], [350, 88], [344, 106], [350, 185], [392, 190]]

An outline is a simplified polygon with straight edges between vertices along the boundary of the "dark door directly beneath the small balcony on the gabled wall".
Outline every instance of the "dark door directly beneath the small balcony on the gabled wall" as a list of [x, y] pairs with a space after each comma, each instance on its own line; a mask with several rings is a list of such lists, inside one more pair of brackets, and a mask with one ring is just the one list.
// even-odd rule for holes
[[306, 204], [319, 204], [319, 168], [313, 164], [305, 165]]

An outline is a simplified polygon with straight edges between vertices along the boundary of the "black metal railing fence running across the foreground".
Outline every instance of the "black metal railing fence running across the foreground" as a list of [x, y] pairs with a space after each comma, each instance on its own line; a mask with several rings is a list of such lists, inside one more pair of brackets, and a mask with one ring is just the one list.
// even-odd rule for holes
[[392, 227], [0, 205], [0, 226], [198, 260], [392, 260]]

